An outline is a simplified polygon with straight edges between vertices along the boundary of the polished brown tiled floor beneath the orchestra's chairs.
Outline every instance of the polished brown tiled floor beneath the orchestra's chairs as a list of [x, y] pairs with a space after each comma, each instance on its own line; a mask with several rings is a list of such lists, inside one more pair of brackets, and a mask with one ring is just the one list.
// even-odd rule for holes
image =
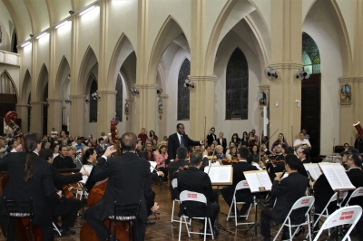
[[[152, 186], [152, 189], [156, 193], [155, 201], [157, 201], [160, 204], [160, 219], [156, 220], [155, 225], [147, 226], [146, 227], [146, 235], [145, 240], [178, 240], [179, 235], [179, 223], [173, 222], [171, 224], [171, 214], [172, 214], [172, 200], [170, 196], [169, 189], [165, 186]], [[229, 207], [221, 198], [220, 196], [220, 205], [221, 205], [221, 211], [224, 213], [228, 213]], [[258, 208], [258, 218], [260, 220], [260, 210], [263, 207]], [[177, 211], [179, 210], [178, 205], [176, 205]], [[175, 216], [176, 217], [176, 216]], [[178, 218], [178, 217], [176, 217]], [[250, 213], [250, 220], [253, 220], [254, 218], [254, 211], [253, 208], [251, 209]], [[262, 240], [262, 236], [253, 237], [251, 232], [248, 232], [247, 234], [244, 234], [245, 230], [250, 227], [249, 226], [238, 226], [237, 228], [234, 226], [234, 220], [230, 220], [229, 222], [226, 221], [226, 216], [223, 214], [220, 214], [219, 221], [221, 226], [225, 227], [226, 229], [231, 231], [231, 234], [224, 232], [220, 230], [220, 235], [215, 240], [238, 240], [238, 241], [244, 241], [244, 240]], [[77, 232], [74, 236], [64, 236], [59, 237], [58, 235], [54, 235], [54, 240], [58, 241], [75, 241], [80, 240], [79, 239], [79, 232], [81, 227], [81, 218], [77, 220], [76, 225], [74, 227], [74, 230]], [[191, 225], [191, 228], [194, 231], [197, 231], [201, 228], [201, 224], [197, 222], [193, 222]], [[277, 232], [277, 228], [275, 227], [272, 231], [272, 235], [274, 236]], [[258, 234], [260, 235], [260, 227], [258, 228]], [[319, 238], [319, 240], [324, 240], [327, 238], [327, 234], [324, 235], [323, 238]], [[210, 238], [211, 239], [211, 238]], [[5, 240], [4, 236], [0, 234], [0, 240]], [[186, 232], [185, 227], [182, 227], [182, 240], [188, 240], [188, 235]], [[198, 235], [191, 235], [190, 240], [201, 240]], [[280, 240], [277, 239], [277, 240]], [[303, 236], [295, 237], [294, 240], [304, 240]], [[341, 236], [338, 240], [341, 240]], [[358, 240], [357, 236], [352, 236], [352, 240]]]

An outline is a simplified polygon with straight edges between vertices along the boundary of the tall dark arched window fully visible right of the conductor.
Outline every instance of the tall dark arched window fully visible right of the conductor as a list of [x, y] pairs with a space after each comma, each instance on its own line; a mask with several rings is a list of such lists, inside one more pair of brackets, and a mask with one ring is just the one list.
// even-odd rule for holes
[[236, 48], [226, 70], [226, 120], [249, 118], [249, 66], [246, 57]]

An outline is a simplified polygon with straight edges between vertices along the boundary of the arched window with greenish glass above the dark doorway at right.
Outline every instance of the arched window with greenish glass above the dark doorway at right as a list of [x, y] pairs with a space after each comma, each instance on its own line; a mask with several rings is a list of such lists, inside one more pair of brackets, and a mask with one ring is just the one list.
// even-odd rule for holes
[[305, 32], [302, 32], [301, 61], [304, 71], [311, 73], [320, 72], [320, 53], [317, 43]]

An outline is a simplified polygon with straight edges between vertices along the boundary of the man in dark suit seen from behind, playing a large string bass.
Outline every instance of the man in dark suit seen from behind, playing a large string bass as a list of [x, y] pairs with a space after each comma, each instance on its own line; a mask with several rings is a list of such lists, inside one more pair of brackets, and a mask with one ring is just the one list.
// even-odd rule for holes
[[[121, 138], [123, 155], [113, 159], [101, 158], [94, 168], [95, 182], [108, 178], [107, 188], [103, 198], [93, 207], [84, 212], [84, 220], [93, 228], [100, 240], [115, 240], [109, 236], [108, 228], [103, 221], [113, 215], [113, 202], [119, 204], [134, 204], [141, 200], [137, 219], [137, 239], [144, 240], [148, 210], [154, 208], [152, 192], [152, 173], [150, 163], [135, 154], [137, 137], [132, 132], [126, 132]], [[108, 147], [104, 156], [110, 156], [115, 150]]]

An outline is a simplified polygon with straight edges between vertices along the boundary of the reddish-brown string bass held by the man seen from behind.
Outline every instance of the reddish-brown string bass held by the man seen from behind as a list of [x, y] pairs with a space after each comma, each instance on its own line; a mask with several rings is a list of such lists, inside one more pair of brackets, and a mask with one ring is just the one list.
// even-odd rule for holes
[[[117, 124], [119, 123], [119, 120], [117, 118], [113, 117], [113, 120], [111, 122], [111, 136], [113, 140], [113, 146], [115, 149], [117, 149], [116, 152], [113, 153], [113, 157], [120, 156], [122, 154], [122, 151], [120, 149], [119, 144], [119, 132], [117, 130]], [[93, 207], [98, 203], [98, 201], [103, 198], [104, 192], [107, 187], [107, 179], [104, 181], [101, 181], [99, 183], [96, 183], [90, 193], [88, 194], [88, 200], [87, 200], [87, 206]], [[106, 219], [104, 220], [104, 224], [106, 226], [109, 225], [110, 220]], [[116, 236], [118, 240], [129, 240], [129, 227], [127, 222], [117, 222], [116, 223]], [[113, 234], [113, 221], [111, 223], [111, 233]], [[83, 222], [81, 231], [80, 231], [80, 241], [98, 241], [97, 235], [94, 233], [93, 229], [86, 223]]]

